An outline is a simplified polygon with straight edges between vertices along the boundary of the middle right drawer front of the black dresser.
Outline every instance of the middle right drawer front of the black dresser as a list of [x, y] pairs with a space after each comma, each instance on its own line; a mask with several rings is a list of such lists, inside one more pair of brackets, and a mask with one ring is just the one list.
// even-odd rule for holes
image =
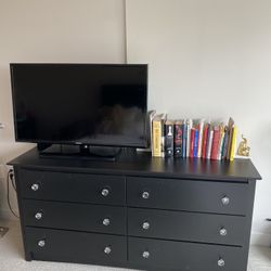
[[132, 236], [242, 246], [245, 242], [244, 227], [245, 217], [128, 209], [128, 234]]

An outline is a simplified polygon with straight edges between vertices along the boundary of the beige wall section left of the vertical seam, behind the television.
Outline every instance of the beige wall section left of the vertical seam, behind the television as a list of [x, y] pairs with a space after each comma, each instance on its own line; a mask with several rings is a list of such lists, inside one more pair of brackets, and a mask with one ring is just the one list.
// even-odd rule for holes
[[[5, 124], [0, 165], [33, 146], [14, 143], [9, 63], [121, 63], [124, 34], [122, 0], [0, 0], [0, 122]], [[5, 216], [7, 169], [1, 170], [0, 216]]]

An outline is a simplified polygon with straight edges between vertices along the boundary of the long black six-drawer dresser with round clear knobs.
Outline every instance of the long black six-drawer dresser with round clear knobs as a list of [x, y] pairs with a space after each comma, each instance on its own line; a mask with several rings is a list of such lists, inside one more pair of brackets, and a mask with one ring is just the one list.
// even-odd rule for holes
[[249, 159], [124, 154], [14, 166], [26, 260], [142, 270], [245, 271], [255, 183]]

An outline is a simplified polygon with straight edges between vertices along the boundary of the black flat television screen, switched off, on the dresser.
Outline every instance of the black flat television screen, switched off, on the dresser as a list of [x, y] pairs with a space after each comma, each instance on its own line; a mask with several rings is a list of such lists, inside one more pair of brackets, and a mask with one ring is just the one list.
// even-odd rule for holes
[[10, 66], [16, 141], [146, 146], [147, 65]]

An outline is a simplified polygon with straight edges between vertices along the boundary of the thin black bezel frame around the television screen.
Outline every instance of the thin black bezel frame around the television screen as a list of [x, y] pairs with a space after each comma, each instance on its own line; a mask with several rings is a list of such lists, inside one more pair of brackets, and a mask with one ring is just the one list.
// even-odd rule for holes
[[[79, 141], [57, 141], [57, 140], [38, 140], [38, 139], [31, 139], [31, 140], [23, 140], [18, 139], [17, 134], [17, 124], [16, 124], [16, 99], [15, 99], [15, 87], [14, 87], [14, 77], [13, 77], [13, 67], [15, 65], [27, 65], [27, 66], [117, 66], [117, 67], [125, 67], [125, 66], [139, 66], [139, 67], [145, 67], [145, 77], [146, 77], [146, 92], [145, 92], [145, 120], [144, 120], [144, 139], [142, 140], [142, 144], [139, 142], [137, 143], [127, 143], [127, 144], [119, 144], [119, 143], [112, 143], [112, 142], [103, 142], [103, 143], [95, 143], [91, 140], [86, 142], [79, 142]], [[14, 124], [14, 134], [15, 134], [15, 141], [21, 143], [37, 143], [37, 144], [63, 144], [63, 145], [93, 145], [93, 146], [116, 146], [116, 147], [147, 147], [147, 98], [149, 98], [149, 65], [147, 64], [114, 64], [114, 63], [10, 63], [10, 75], [11, 75], [11, 90], [12, 90], [12, 106], [13, 106], [13, 124]]]

